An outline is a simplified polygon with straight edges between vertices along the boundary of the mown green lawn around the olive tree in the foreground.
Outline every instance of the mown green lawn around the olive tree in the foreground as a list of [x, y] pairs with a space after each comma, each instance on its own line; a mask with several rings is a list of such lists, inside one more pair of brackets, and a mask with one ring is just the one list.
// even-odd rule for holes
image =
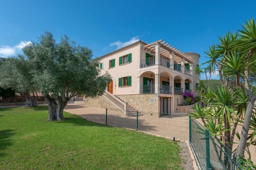
[[0, 169], [182, 169], [177, 143], [47, 107], [0, 109]]

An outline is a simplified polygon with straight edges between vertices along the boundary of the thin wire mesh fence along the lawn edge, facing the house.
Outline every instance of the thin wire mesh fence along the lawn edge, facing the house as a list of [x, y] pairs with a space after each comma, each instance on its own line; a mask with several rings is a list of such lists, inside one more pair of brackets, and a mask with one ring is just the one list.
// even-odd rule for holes
[[188, 140], [187, 115], [158, 117], [156, 112], [140, 112], [135, 116], [121, 116], [106, 112], [105, 120], [106, 124], [113, 126], [134, 129], [165, 138]]

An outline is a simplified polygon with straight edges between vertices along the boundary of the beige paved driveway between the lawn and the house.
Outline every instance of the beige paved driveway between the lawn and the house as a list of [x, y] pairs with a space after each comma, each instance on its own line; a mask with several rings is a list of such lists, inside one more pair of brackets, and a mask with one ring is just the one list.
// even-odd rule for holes
[[[82, 116], [86, 120], [105, 124], [106, 109], [82, 104], [68, 104], [65, 112]], [[136, 129], [136, 116], [125, 116], [122, 112], [108, 111], [108, 124], [128, 129]], [[172, 116], [156, 117], [151, 114], [139, 116], [139, 131], [160, 137], [188, 140], [188, 115], [175, 113]]]

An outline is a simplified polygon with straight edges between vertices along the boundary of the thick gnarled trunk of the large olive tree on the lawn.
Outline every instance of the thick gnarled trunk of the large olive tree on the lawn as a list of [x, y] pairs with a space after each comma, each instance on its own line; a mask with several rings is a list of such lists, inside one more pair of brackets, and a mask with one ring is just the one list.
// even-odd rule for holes
[[58, 98], [57, 100], [51, 98], [49, 95], [46, 95], [46, 100], [47, 100], [47, 104], [48, 104], [48, 113], [49, 113], [49, 117], [48, 120], [49, 121], [62, 121], [65, 119], [65, 117], [63, 116], [63, 110], [65, 108], [65, 106], [68, 103], [68, 100], [66, 100], [65, 98]]

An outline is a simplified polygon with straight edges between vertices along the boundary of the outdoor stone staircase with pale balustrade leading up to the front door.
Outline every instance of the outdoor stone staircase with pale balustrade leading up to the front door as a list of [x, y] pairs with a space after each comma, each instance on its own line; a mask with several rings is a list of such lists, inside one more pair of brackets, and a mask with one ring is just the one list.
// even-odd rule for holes
[[126, 116], [136, 116], [137, 111], [122, 99], [110, 94], [108, 91], [105, 91], [103, 97], [108, 99], [114, 106], [121, 109]]

